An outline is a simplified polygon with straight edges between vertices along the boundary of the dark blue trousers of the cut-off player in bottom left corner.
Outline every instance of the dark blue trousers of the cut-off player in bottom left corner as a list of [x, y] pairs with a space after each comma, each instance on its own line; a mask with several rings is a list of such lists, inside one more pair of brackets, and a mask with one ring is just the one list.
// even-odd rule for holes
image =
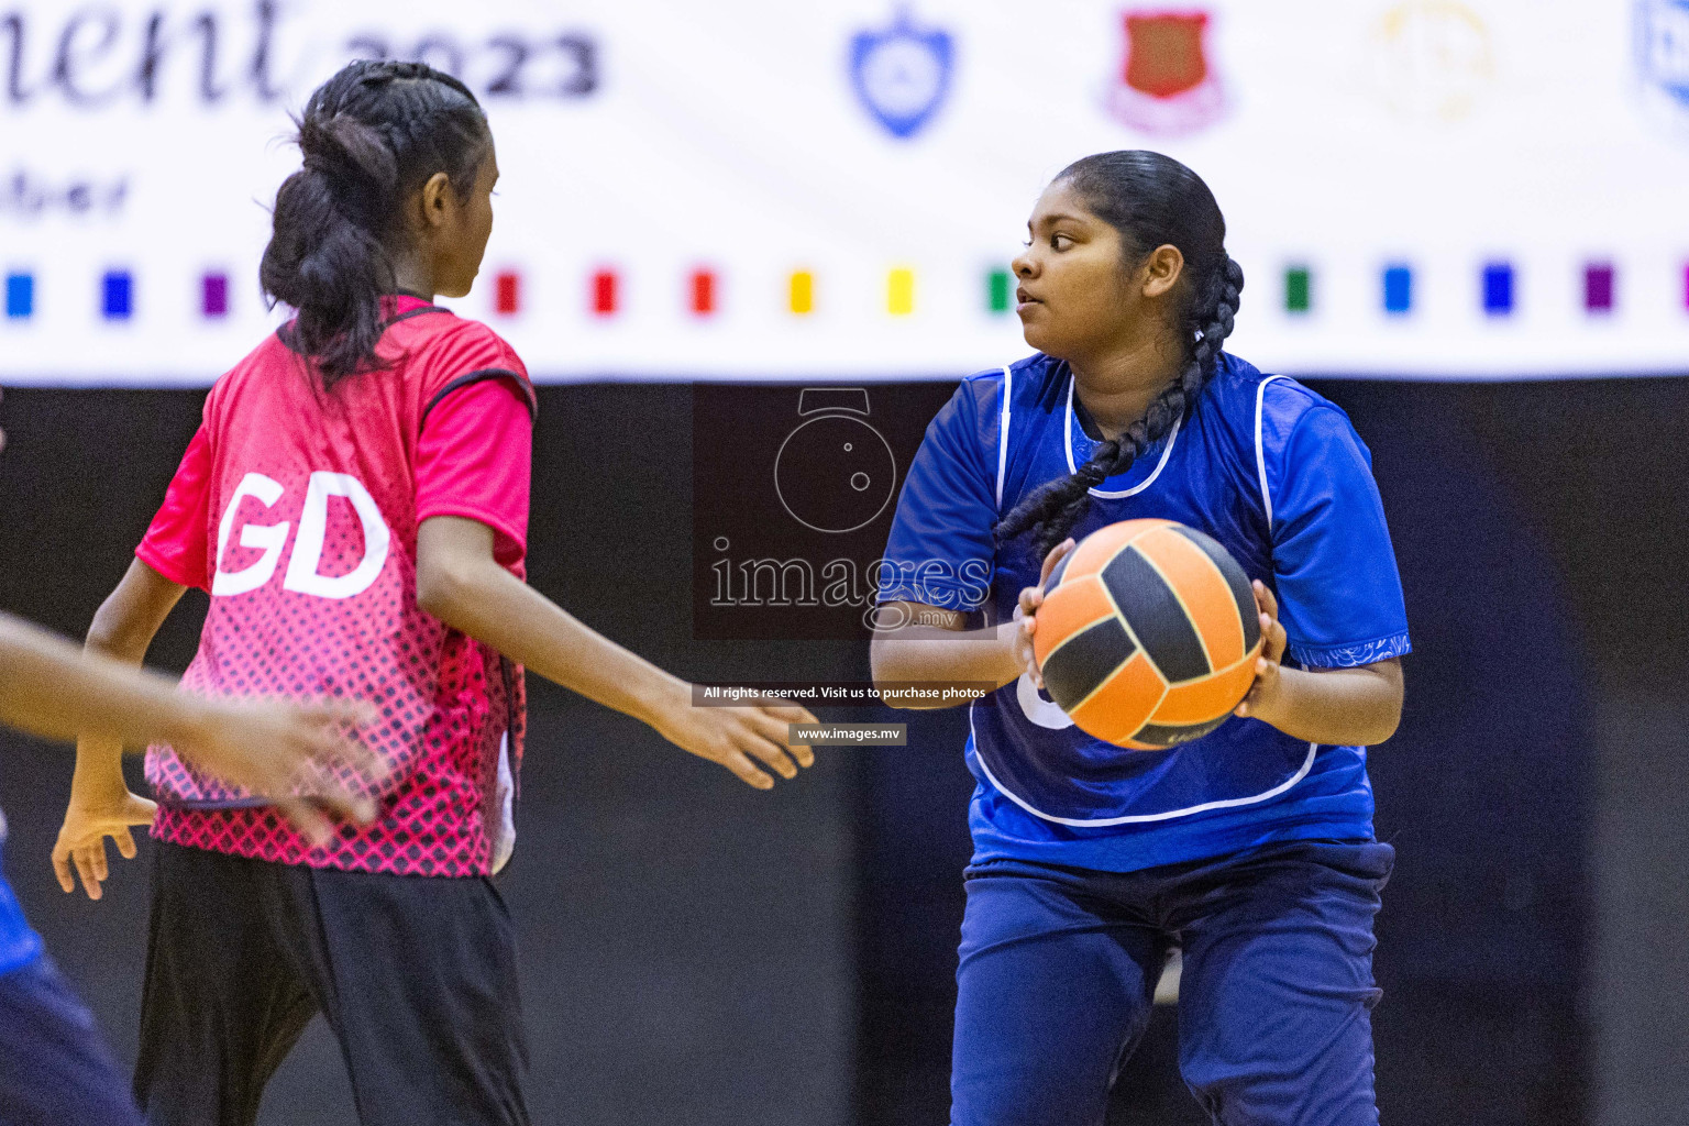
[[46, 955], [0, 974], [0, 1123], [140, 1126], [128, 1077]]

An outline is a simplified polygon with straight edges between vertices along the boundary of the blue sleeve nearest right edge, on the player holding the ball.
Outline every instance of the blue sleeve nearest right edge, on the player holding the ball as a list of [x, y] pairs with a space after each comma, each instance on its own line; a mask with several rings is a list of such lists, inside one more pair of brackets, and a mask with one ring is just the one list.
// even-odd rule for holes
[[1341, 410], [1314, 407], [1295, 424], [1272, 501], [1289, 655], [1309, 669], [1343, 669], [1410, 652], [1371, 457]]

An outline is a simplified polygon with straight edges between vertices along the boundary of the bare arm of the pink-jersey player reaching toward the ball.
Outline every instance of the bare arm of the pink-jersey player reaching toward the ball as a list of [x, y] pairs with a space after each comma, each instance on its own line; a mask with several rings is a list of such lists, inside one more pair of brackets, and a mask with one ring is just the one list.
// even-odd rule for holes
[[[662, 738], [767, 790], [811, 766], [787, 726], [816, 723], [792, 704], [696, 707], [692, 685], [588, 628], [493, 559], [493, 530], [432, 517], [417, 530], [417, 604], [454, 630], [566, 689], [650, 724]], [[794, 765], [796, 761], [796, 765]]]

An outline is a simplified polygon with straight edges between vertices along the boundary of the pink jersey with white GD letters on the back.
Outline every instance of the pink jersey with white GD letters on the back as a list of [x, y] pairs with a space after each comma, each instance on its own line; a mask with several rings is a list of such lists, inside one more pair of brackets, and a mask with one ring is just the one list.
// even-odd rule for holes
[[378, 706], [360, 738], [390, 777], [346, 782], [380, 814], [311, 847], [262, 800], [154, 746], [162, 839], [355, 871], [493, 868], [520, 766], [522, 670], [417, 606], [415, 537], [429, 517], [478, 520], [524, 576], [534, 390], [485, 324], [414, 297], [390, 314], [388, 366], [333, 392], [279, 336], [218, 380], [135, 552], [211, 594], [186, 689]]

